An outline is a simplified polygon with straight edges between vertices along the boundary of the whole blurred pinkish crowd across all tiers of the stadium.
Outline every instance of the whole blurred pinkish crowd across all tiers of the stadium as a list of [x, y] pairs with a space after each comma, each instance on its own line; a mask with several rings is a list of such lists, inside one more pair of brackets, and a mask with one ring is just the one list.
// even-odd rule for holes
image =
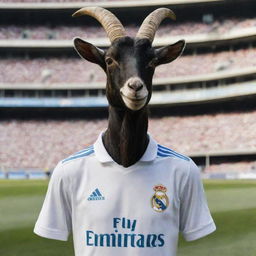
[[[2, 0], [1, 2], [75, 2], [77, 0]], [[88, 0], [88, 2], [107, 0]], [[111, 0], [117, 1], [117, 0]], [[145, 0], [146, 1], [146, 0]], [[167, 22], [157, 31], [158, 37], [189, 34], [223, 34], [256, 26], [256, 18], [216, 19], [203, 22]], [[134, 36], [138, 27], [126, 27]], [[100, 27], [89, 26], [20, 26], [0, 25], [0, 40], [71, 40], [73, 37], [105, 38]], [[183, 77], [256, 66], [254, 48], [182, 56], [156, 69], [155, 78]], [[95, 64], [79, 58], [2, 58], [0, 83], [89, 83], [105, 81], [104, 72]], [[171, 114], [171, 113], [170, 113]], [[256, 150], [256, 111], [228, 114], [205, 114], [186, 117], [151, 118], [149, 132], [160, 144], [189, 155], [212, 151]], [[107, 120], [0, 122], [0, 168], [51, 169], [58, 161], [94, 143], [106, 129]], [[256, 162], [211, 165], [205, 171], [254, 170]]]

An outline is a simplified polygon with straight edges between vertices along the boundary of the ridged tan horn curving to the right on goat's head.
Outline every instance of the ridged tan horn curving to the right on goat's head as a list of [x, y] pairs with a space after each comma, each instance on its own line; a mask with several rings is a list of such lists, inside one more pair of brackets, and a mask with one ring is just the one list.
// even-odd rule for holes
[[168, 8], [158, 8], [151, 12], [141, 24], [136, 38], [147, 38], [152, 43], [156, 30], [165, 18], [176, 20], [174, 12]]

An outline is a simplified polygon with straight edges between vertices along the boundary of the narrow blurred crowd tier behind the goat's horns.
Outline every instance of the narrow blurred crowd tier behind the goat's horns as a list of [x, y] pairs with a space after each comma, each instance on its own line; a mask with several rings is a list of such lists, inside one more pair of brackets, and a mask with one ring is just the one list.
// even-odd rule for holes
[[[242, 28], [255, 27], [256, 18], [229, 18], [217, 19], [207, 23], [202, 21], [190, 21], [183, 23], [174, 23], [170, 21], [159, 27], [156, 37], [169, 37], [174, 35], [191, 34], [223, 34], [232, 30], [241, 30]], [[125, 26], [127, 34], [135, 36], [138, 27], [136, 25]], [[0, 25], [0, 39], [56, 39], [71, 40], [73, 37], [104, 38], [106, 32], [102, 27], [97, 26], [19, 26], [19, 25]]]

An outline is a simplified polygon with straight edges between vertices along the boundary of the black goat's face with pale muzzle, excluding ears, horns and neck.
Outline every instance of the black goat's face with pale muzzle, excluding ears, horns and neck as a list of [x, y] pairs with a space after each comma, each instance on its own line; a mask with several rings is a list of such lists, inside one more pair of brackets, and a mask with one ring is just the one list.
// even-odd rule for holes
[[106, 52], [107, 98], [113, 106], [136, 111], [150, 100], [154, 67], [148, 64], [154, 51], [143, 41], [124, 37]]

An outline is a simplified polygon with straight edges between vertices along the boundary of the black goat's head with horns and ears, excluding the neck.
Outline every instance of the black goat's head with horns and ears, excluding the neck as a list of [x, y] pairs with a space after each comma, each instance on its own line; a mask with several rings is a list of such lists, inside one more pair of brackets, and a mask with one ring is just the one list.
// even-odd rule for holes
[[141, 24], [135, 39], [126, 36], [122, 23], [110, 11], [101, 7], [84, 7], [72, 16], [89, 15], [105, 29], [111, 46], [103, 51], [75, 38], [75, 49], [80, 56], [100, 65], [107, 74], [107, 98], [110, 105], [136, 111], [147, 105], [152, 94], [152, 77], [155, 67], [176, 59], [185, 42], [178, 41], [160, 49], [153, 49], [158, 26], [165, 18], [176, 19], [168, 8], [151, 12]]

